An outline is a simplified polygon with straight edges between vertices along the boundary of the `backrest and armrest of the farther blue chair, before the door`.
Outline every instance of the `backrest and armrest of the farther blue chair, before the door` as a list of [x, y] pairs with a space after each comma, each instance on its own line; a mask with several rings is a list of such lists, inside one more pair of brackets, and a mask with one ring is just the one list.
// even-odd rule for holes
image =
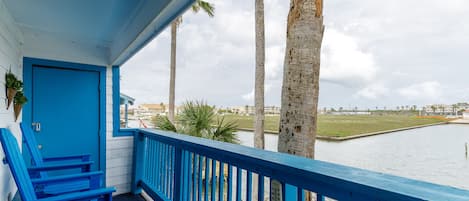
[[[23, 142], [27, 147], [29, 154], [31, 155], [31, 165], [33, 167], [47, 166], [48, 164], [54, 164], [56, 170], [66, 169], [81, 169], [81, 172], [89, 172], [93, 161], [90, 161], [90, 155], [76, 155], [76, 156], [60, 156], [60, 157], [43, 157], [40, 150], [36, 137], [33, 134], [31, 127], [25, 124], [20, 124], [21, 132], [23, 133]], [[34, 178], [47, 177], [44, 172], [35, 172], [31, 175]]]

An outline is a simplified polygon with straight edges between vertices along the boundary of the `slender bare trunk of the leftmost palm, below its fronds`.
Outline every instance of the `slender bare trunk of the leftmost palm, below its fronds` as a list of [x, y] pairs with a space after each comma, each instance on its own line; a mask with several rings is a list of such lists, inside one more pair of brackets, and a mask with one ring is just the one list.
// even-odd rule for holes
[[174, 97], [176, 88], [176, 36], [179, 19], [171, 23], [171, 64], [169, 75], [168, 119], [174, 124]]

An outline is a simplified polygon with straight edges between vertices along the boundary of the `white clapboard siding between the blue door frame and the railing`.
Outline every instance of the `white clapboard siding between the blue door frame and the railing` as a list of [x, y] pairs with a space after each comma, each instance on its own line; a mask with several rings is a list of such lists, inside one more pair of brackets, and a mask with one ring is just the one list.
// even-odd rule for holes
[[[132, 180], [133, 137], [113, 137], [112, 67], [106, 75], [106, 185], [117, 189], [115, 194], [130, 191]], [[119, 111], [117, 111], [119, 112]], [[118, 123], [118, 122], [117, 122]]]

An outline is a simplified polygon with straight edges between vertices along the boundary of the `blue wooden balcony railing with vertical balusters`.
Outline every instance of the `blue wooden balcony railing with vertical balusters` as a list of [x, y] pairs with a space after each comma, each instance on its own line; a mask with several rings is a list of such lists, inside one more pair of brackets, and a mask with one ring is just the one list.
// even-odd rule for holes
[[134, 140], [132, 191], [155, 200], [469, 200], [449, 186], [159, 130]]

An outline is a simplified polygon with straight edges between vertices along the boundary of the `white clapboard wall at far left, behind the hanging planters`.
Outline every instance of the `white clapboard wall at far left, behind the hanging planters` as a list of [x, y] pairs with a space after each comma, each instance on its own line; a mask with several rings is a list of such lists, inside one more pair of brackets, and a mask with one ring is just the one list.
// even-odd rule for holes
[[[14, 23], [3, 1], [0, 1], [0, 127], [9, 128], [18, 142], [21, 142], [18, 123], [14, 120], [13, 107], [6, 109], [5, 73], [11, 71], [22, 79], [22, 33]], [[19, 117], [21, 119], [21, 116]], [[19, 143], [21, 146], [21, 143]], [[4, 158], [0, 145], [0, 159]], [[1, 163], [0, 163], [1, 164]], [[0, 200], [11, 200], [16, 193], [16, 185], [7, 165], [0, 165]]]

